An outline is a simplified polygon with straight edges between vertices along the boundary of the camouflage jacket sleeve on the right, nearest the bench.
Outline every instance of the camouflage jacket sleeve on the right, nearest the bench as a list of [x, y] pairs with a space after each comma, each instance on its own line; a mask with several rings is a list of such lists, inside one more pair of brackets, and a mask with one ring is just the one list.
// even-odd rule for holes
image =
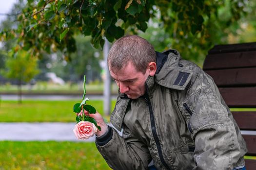
[[[209, 81], [209, 78], [204, 78]], [[198, 85], [197, 85], [198, 87]], [[243, 156], [236, 129], [227, 108], [221, 103], [216, 85], [211, 80], [201, 83], [185, 101], [191, 119], [188, 127], [195, 140], [193, 170], [231, 170]]]

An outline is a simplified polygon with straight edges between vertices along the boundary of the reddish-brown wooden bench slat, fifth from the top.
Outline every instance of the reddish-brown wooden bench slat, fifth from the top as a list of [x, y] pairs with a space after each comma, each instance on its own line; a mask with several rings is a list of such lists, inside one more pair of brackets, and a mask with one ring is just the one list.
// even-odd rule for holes
[[256, 130], [256, 112], [232, 112], [241, 130]]

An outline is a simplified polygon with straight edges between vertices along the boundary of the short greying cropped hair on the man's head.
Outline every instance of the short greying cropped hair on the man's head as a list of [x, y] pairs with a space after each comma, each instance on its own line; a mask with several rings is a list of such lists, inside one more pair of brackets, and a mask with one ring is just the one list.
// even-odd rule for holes
[[118, 71], [129, 62], [132, 62], [137, 71], [145, 74], [148, 64], [156, 62], [156, 51], [146, 39], [138, 35], [123, 36], [109, 51], [108, 67], [112, 71]]

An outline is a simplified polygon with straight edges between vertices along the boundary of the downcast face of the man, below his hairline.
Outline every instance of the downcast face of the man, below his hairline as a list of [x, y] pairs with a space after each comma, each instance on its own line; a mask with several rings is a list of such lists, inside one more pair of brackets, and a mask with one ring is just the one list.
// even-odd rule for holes
[[146, 91], [145, 82], [150, 75], [150, 70], [147, 69], [146, 73], [143, 74], [138, 72], [129, 62], [125, 68], [115, 73], [110, 69], [110, 75], [116, 81], [121, 93], [126, 94], [131, 99], [137, 99]]

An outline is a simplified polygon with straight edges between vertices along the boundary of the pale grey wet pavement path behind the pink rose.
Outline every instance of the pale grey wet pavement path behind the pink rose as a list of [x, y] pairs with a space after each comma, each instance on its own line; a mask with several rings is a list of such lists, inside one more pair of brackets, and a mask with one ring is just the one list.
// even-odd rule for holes
[[[12, 141], [84, 141], [94, 142], [95, 136], [78, 140], [73, 133], [76, 123], [0, 123], [0, 140]], [[112, 125], [110, 125], [112, 126]]]

